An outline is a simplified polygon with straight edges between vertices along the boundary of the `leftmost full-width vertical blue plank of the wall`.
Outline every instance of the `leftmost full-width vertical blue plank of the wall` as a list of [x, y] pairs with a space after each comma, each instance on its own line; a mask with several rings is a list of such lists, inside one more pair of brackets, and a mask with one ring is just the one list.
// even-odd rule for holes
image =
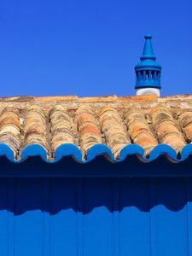
[[18, 177], [15, 183], [15, 256], [44, 252], [44, 188], [42, 178]]

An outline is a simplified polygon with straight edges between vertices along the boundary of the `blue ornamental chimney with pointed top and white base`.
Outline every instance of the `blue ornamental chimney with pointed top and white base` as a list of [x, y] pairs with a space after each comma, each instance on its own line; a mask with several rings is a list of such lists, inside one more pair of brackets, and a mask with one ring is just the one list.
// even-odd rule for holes
[[156, 94], [160, 96], [160, 72], [161, 67], [155, 60], [151, 35], [146, 35], [143, 55], [136, 67], [136, 90], [137, 95]]

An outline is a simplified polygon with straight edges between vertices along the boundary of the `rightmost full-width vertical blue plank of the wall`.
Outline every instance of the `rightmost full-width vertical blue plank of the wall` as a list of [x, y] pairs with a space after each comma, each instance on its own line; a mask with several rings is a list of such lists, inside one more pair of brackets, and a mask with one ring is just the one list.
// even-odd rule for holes
[[187, 256], [186, 189], [183, 177], [160, 177], [156, 188], [157, 256]]

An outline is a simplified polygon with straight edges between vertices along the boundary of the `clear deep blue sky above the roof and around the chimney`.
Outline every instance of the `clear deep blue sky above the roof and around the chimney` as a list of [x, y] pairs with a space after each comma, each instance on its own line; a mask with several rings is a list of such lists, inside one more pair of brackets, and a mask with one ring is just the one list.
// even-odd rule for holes
[[0, 95], [134, 95], [145, 33], [161, 94], [192, 93], [191, 0], [2, 0]]

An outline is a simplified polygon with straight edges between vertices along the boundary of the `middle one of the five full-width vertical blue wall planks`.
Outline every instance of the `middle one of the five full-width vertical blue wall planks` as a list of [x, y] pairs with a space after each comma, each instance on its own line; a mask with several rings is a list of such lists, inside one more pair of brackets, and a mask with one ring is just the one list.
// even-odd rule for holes
[[84, 256], [113, 255], [113, 179], [84, 178]]

